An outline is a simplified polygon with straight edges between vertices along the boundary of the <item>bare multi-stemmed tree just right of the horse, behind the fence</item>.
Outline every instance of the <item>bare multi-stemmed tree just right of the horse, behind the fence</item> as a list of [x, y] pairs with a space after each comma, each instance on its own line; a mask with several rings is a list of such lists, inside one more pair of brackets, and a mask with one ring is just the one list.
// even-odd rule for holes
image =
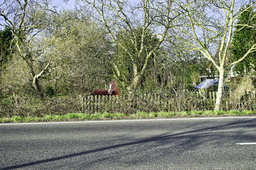
[[[128, 64], [113, 62], [113, 69], [115, 70], [116, 78], [127, 87], [130, 94], [133, 94], [141, 81], [141, 77], [145, 74], [150, 58], [159, 49], [159, 46], [166, 38], [168, 30], [173, 27], [178, 18], [178, 14], [174, 14], [177, 6], [173, 6], [173, 1], [170, 0], [164, 3], [143, 0], [135, 6], [119, 0], [84, 1], [97, 12], [106, 31], [108, 31], [111, 42], [122, 49], [123, 53], [127, 54], [125, 56], [129, 56]], [[141, 28], [141, 31], [138, 32], [138, 28]], [[145, 42], [149, 29], [157, 32], [157, 38], [159, 38], [150, 48]], [[130, 43], [118, 41], [118, 32], [122, 30], [125, 31], [125, 38], [129, 38]], [[137, 41], [138, 38], [140, 38], [140, 41]], [[140, 62], [138, 62], [139, 60]], [[124, 74], [120, 68], [126, 68], [130, 66], [129, 64], [131, 64], [132, 75], [122, 77]]]

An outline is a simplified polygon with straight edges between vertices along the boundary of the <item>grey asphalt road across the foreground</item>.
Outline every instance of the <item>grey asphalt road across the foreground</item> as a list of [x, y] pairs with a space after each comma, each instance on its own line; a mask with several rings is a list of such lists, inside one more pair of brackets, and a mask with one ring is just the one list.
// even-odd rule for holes
[[0, 124], [0, 169], [256, 169], [256, 117]]

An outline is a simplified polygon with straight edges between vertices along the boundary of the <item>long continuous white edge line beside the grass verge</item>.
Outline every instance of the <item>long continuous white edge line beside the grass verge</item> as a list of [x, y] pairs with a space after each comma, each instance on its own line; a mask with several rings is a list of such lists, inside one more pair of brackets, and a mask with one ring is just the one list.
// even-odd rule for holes
[[7, 123], [0, 125], [35, 125], [35, 124], [84, 124], [102, 122], [149, 122], [149, 121], [170, 121], [170, 120], [211, 120], [211, 119], [234, 119], [234, 118], [256, 118], [256, 117], [200, 117], [200, 118], [155, 118], [155, 119], [131, 119], [131, 120], [85, 120], [70, 122], [30, 122], [30, 123]]

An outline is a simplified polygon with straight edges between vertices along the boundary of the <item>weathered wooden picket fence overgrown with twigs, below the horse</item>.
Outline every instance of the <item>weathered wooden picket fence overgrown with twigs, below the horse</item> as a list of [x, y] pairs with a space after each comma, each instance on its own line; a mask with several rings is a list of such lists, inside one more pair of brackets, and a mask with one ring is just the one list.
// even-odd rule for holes
[[[191, 111], [214, 110], [216, 92], [207, 96], [189, 93], [170, 97], [163, 94], [142, 94], [140, 96], [83, 96], [79, 95], [79, 110], [84, 113], [118, 112], [136, 113], [136, 111]], [[221, 110], [256, 110], [254, 96], [232, 98], [225, 96]]]

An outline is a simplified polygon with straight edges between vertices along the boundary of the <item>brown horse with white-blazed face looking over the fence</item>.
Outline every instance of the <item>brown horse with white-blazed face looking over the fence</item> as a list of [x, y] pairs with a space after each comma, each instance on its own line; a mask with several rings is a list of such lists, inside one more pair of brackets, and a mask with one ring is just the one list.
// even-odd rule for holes
[[119, 90], [116, 87], [115, 81], [109, 81], [108, 90], [105, 89], [96, 89], [92, 92], [92, 95], [98, 96], [120, 96]]

